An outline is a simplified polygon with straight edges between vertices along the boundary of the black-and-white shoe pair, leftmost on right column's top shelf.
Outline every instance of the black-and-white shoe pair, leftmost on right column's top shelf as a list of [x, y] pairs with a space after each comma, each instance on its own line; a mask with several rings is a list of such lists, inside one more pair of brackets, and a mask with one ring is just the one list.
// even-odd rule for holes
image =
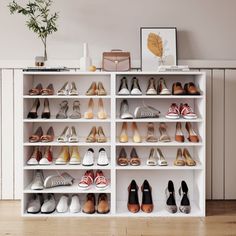
[[118, 91], [118, 95], [142, 95], [142, 90], [139, 86], [138, 79], [136, 77], [132, 78], [131, 81], [131, 89], [128, 88], [127, 78], [123, 77], [120, 81], [120, 87]]

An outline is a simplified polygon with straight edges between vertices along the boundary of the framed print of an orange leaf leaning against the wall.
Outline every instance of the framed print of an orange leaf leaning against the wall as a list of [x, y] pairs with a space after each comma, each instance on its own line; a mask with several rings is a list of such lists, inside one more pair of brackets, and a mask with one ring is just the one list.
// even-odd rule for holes
[[177, 64], [176, 28], [142, 27], [141, 68], [156, 71], [159, 66]]

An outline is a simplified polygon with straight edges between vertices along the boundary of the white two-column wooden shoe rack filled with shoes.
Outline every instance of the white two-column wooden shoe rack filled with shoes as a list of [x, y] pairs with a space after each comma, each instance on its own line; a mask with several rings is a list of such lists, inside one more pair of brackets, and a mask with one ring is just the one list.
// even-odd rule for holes
[[[141, 96], [120, 96], [118, 94], [118, 89], [120, 85], [120, 80], [122, 77], [128, 79], [129, 88], [131, 87], [132, 77], [137, 77], [139, 80], [140, 87], [142, 89], [143, 95]], [[149, 78], [154, 77], [156, 80], [161, 77], [165, 79], [167, 87], [172, 89], [172, 84], [174, 82], [181, 82], [182, 86], [185, 83], [193, 81], [195, 84], [199, 85], [201, 90], [201, 95], [199, 96], [147, 96], [145, 95], [148, 80]], [[79, 95], [78, 96], [57, 96], [57, 91], [63, 86], [63, 84], [68, 81], [69, 83], [75, 82]], [[108, 93], [107, 96], [86, 96], [85, 93], [93, 81], [101, 81]], [[52, 83], [55, 89], [55, 95], [53, 96], [29, 96], [28, 91], [32, 87], [36, 86], [38, 83], [42, 83], [43, 87], [46, 87], [49, 83]], [[206, 104], [206, 76], [202, 72], [181, 72], [181, 73], [172, 73], [172, 72], [124, 72], [124, 73], [108, 73], [108, 72], [23, 72], [23, 154], [22, 154], [22, 168], [23, 168], [23, 199], [22, 199], [22, 215], [28, 217], [38, 217], [38, 216], [80, 216], [80, 217], [107, 217], [107, 216], [134, 216], [134, 217], [189, 217], [189, 216], [205, 216], [205, 104]], [[27, 114], [33, 104], [35, 98], [40, 99], [40, 108], [38, 110], [38, 116], [41, 117], [43, 109], [44, 98], [48, 98], [50, 102], [50, 112], [51, 119], [27, 119]], [[81, 114], [87, 110], [88, 101], [90, 98], [94, 99], [95, 102], [95, 117], [98, 108], [98, 99], [102, 98], [105, 109], [108, 113], [108, 118], [106, 120], [99, 119], [65, 119], [58, 120], [55, 118], [58, 110], [59, 104], [63, 100], [69, 102], [68, 115], [72, 112], [73, 101], [79, 100], [81, 104]], [[134, 112], [134, 109], [138, 105], [143, 103], [152, 105], [158, 110], [161, 111], [160, 118], [157, 119], [133, 119], [133, 120], [121, 120], [119, 118], [120, 113], [120, 103], [123, 99], [127, 99], [130, 107], [130, 111]], [[165, 114], [168, 111], [168, 108], [171, 103], [177, 103], [178, 105], [182, 102], [189, 103], [194, 111], [197, 113], [198, 118], [192, 120], [193, 127], [198, 131], [201, 139], [199, 143], [190, 143], [185, 141], [185, 143], [177, 143], [174, 141], [175, 135], [175, 125], [176, 122], [182, 122], [182, 130], [185, 131], [185, 122], [188, 120], [178, 119], [170, 120], [165, 118]], [[119, 134], [121, 131], [122, 122], [128, 122], [128, 130], [130, 140], [128, 143], [119, 142]], [[142, 143], [133, 143], [132, 142], [132, 131], [131, 131], [131, 122], [137, 122], [139, 132], [143, 137]], [[166, 122], [168, 126], [168, 134], [172, 138], [172, 142], [169, 143], [147, 143], [145, 142], [145, 136], [147, 134], [147, 123], [154, 122], [156, 134], [159, 136], [159, 123]], [[79, 143], [68, 143], [61, 144], [57, 143], [56, 138], [62, 132], [65, 126], [75, 126], [77, 135], [79, 136]], [[55, 140], [52, 143], [29, 143], [29, 136], [35, 131], [38, 126], [42, 126], [44, 133], [50, 126], [53, 126], [55, 132]], [[92, 126], [102, 126], [105, 132], [105, 135], [108, 137], [107, 143], [86, 143], [85, 139], [89, 134]], [[185, 132], [185, 140], [187, 140], [187, 132]], [[84, 167], [82, 165], [49, 165], [49, 166], [29, 166], [26, 164], [29, 159], [34, 146], [52, 146], [53, 157], [57, 158], [57, 153], [59, 152], [60, 146], [78, 146], [80, 151], [81, 160], [84, 153], [88, 148], [93, 148], [95, 151], [95, 157], [98, 156], [98, 150], [104, 147], [109, 155], [110, 164], [105, 167], [99, 167], [96, 164], [92, 167]], [[122, 146], [125, 146], [126, 152], [130, 154], [132, 147], [135, 147], [139, 157], [141, 158], [141, 165], [134, 166], [118, 166], [117, 157]], [[146, 160], [149, 156], [150, 149], [154, 147], [159, 147], [164, 156], [168, 161], [168, 166], [161, 167], [155, 166], [150, 167], [146, 166]], [[193, 158], [197, 161], [197, 165], [194, 167], [177, 167], [174, 166], [173, 162], [176, 157], [177, 148], [187, 147], [190, 151]], [[95, 159], [96, 163], [96, 159]], [[51, 189], [44, 189], [41, 191], [34, 191], [30, 189], [30, 183], [32, 181], [34, 172], [36, 169], [43, 170], [44, 176], [50, 174], [62, 173], [64, 171], [71, 174], [75, 179], [75, 183], [69, 187], [56, 187]], [[95, 193], [98, 197], [99, 191], [95, 188], [90, 190], [82, 191], [78, 188], [78, 181], [83, 176], [84, 172], [87, 169], [97, 169], [103, 170], [105, 176], [110, 179], [110, 187], [104, 191], [109, 195], [110, 201], [110, 213], [105, 215], [92, 214], [87, 215], [84, 213], [52, 213], [49, 215], [43, 214], [27, 214], [27, 203], [32, 195], [32, 193], [55, 193], [56, 198], [58, 199], [63, 193], [77, 193], [80, 197], [81, 205], [87, 193]], [[139, 202], [142, 201], [141, 185], [145, 179], [147, 179], [152, 186], [152, 197], [154, 200], [154, 211], [152, 213], [139, 213], [133, 214], [130, 213], [127, 209], [127, 199], [128, 199], [128, 185], [131, 180], [135, 179], [139, 186]], [[175, 186], [176, 192], [176, 201], [177, 206], [179, 206], [180, 197], [178, 195], [178, 189], [180, 187], [181, 181], [185, 180], [189, 187], [189, 198], [191, 202], [191, 213], [186, 215], [181, 213], [179, 210], [175, 214], [167, 212], [165, 209], [165, 188], [167, 187], [168, 181], [172, 180]]]

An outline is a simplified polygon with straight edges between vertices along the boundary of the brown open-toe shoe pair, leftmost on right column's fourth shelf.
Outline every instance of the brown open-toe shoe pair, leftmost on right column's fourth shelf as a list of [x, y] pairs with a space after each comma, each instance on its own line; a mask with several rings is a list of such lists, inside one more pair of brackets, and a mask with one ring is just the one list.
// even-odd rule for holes
[[119, 166], [127, 166], [128, 164], [131, 166], [139, 166], [141, 164], [141, 160], [135, 148], [132, 148], [130, 152], [130, 159], [128, 159], [125, 149], [122, 148], [117, 158], [117, 164]]

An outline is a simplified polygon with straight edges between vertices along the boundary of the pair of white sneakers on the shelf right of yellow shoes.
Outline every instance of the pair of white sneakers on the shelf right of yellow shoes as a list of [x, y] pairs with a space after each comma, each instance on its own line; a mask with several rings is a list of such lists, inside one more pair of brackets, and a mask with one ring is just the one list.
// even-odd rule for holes
[[[94, 165], [94, 150], [92, 148], [89, 148], [87, 152], [84, 154], [83, 166], [93, 166]], [[106, 150], [104, 148], [100, 148], [98, 151], [98, 160], [97, 160], [98, 166], [107, 166], [109, 165], [109, 159], [106, 153]]]

